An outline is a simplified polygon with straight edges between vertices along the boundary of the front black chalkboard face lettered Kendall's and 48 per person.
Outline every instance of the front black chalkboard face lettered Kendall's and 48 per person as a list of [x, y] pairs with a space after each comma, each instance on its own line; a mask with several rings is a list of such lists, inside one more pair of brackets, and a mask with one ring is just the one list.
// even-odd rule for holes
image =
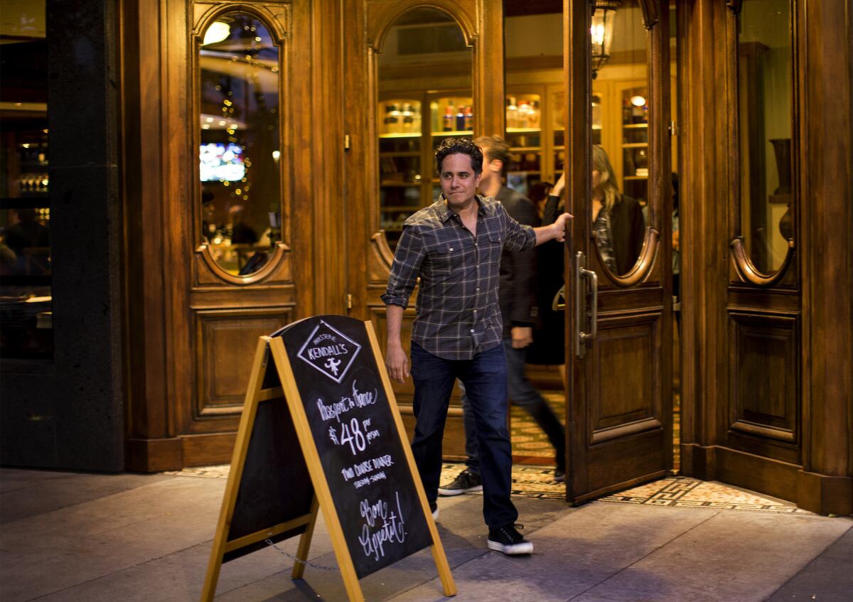
[[357, 576], [431, 546], [416, 476], [364, 322], [321, 315], [276, 335], [287, 350]]

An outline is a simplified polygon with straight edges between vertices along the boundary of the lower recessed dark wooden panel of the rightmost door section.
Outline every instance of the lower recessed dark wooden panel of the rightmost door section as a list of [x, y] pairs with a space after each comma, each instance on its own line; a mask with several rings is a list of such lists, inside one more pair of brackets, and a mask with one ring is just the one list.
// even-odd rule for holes
[[798, 441], [796, 317], [729, 313], [729, 428]]

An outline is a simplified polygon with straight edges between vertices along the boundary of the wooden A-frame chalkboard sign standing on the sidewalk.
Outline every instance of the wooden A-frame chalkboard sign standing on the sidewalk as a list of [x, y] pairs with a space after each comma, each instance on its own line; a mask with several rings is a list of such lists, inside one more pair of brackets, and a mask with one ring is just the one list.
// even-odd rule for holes
[[223, 562], [267, 540], [301, 535], [306, 560], [320, 510], [352, 602], [360, 578], [430, 546], [444, 595], [456, 594], [373, 325], [342, 315], [258, 340], [202, 602]]

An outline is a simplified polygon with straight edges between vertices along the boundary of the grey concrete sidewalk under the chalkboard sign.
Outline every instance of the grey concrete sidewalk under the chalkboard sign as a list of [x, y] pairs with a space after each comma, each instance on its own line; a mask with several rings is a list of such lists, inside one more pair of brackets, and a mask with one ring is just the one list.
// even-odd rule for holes
[[[225, 480], [0, 471], [0, 599], [198, 600]], [[482, 498], [440, 498], [455, 600], [853, 599], [853, 520], [518, 497], [530, 557], [485, 547]], [[305, 580], [296, 539], [223, 565], [221, 600], [345, 600], [322, 518]], [[331, 569], [331, 570], [327, 570]], [[428, 551], [361, 581], [368, 600], [445, 599]]]

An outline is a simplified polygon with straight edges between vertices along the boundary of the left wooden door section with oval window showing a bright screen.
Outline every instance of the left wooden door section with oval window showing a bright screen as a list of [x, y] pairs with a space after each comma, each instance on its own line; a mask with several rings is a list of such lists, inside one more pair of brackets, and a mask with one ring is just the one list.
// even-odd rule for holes
[[253, 341], [345, 307], [343, 17], [325, 0], [128, 10], [127, 466], [226, 462]]

